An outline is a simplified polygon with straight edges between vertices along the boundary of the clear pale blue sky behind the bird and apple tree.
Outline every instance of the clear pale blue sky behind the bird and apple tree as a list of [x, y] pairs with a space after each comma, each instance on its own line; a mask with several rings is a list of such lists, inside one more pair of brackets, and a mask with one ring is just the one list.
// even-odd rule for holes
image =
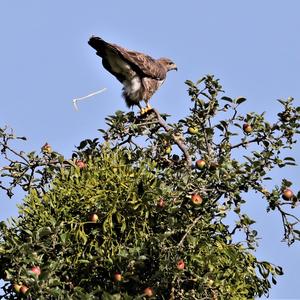
[[[9, 125], [37, 150], [48, 142], [70, 156], [74, 145], [98, 135], [104, 118], [127, 110], [121, 85], [101, 66], [87, 44], [90, 35], [129, 49], [167, 56], [178, 65], [151, 104], [177, 120], [188, 112], [184, 81], [215, 74], [228, 96], [245, 96], [245, 111], [280, 109], [278, 98], [293, 96], [299, 106], [300, 2], [248, 1], [1, 1], [0, 126]], [[106, 87], [107, 91], [72, 107], [72, 99]], [[291, 153], [300, 161], [299, 145]], [[299, 190], [300, 168], [275, 172]], [[1, 195], [0, 218], [16, 215], [16, 197]], [[257, 255], [284, 267], [285, 276], [271, 299], [300, 299], [299, 245], [281, 243], [279, 215], [252, 197], [249, 210], [262, 230]]]

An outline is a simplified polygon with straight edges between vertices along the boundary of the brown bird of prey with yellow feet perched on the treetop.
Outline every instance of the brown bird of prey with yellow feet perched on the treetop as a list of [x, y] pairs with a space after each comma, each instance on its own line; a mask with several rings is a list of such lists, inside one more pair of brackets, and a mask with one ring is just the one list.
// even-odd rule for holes
[[[151, 109], [148, 101], [166, 79], [167, 72], [177, 70], [168, 58], [154, 59], [149, 55], [110, 44], [92, 36], [89, 45], [102, 58], [103, 67], [123, 84], [123, 97], [128, 107], [139, 106], [141, 113]], [[144, 100], [146, 108], [141, 107]]]

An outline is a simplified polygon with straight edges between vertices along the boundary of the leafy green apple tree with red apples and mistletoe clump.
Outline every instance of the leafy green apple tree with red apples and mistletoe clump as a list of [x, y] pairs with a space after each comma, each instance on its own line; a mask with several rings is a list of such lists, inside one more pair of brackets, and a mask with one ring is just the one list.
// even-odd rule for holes
[[0, 224], [0, 299], [253, 299], [276, 284], [282, 270], [255, 257], [243, 204], [256, 192], [280, 213], [287, 243], [299, 240], [299, 193], [286, 179], [265, 185], [274, 167], [295, 164], [281, 151], [295, 143], [300, 108], [280, 100], [270, 124], [238, 112], [245, 98], [220, 98], [213, 76], [186, 83], [186, 118], [117, 112], [103, 141], [82, 141], [70, 159], [48, 144], [17, 151], [11, 142], [24, 138], [0, 131], [0, 187], [26, 193]]

